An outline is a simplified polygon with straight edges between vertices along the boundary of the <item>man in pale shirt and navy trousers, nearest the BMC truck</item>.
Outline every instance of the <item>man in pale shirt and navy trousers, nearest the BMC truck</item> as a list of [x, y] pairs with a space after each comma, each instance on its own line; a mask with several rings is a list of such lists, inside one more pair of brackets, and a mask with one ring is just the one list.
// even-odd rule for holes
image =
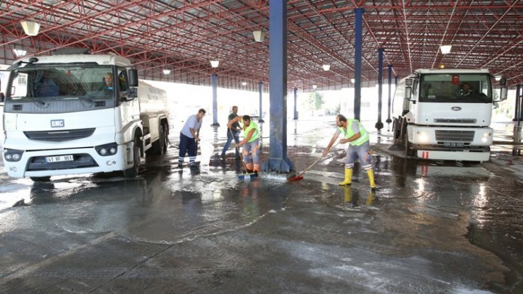
[[185, 153], [189, 152], [189, 163], [191, 167], [196, 166], [196, 142], [199, 140], [201, 122], [204, 119], [205, 110], [201, 108], [197, 114], [191, 115], [180, 131], [180, 153], [178, 155], [178, 167], [184, 163]]

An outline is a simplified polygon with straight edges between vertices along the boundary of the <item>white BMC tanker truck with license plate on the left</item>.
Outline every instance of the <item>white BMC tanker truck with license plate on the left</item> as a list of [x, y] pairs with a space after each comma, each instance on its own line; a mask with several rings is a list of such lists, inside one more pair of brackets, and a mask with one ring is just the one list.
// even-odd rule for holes
[[122, 171], [135, 177], [146, 153], [164, 153], [164, 90], [138, 80], [129, 59], [71, 54], [29, 57], [9, 68], [4, 151], [11, 177]]

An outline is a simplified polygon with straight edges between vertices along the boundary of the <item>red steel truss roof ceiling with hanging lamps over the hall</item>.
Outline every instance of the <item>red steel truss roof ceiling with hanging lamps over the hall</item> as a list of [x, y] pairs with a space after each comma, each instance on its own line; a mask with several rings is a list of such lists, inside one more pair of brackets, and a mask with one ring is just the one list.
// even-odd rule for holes
[[[393, 75], [418, 68], [488, 68], [523, 83], [522, 0], [288, 1], [288, 87], [341, 88], [354, 77], [355, 8], [363, 14], [362, 81], [377, 79], [377, 49]], [[269, 1], [0, 1], [0, 63], [13, 48], [49, 54], [64, 47], [121, 54], [142, 78], [257, 90], [269, 82]], [[23, 33], [21, 20], [41, 24]], [[263, 30], [255, 42], [253, 30]], [[440, 45], [452, 44], [443, 56]], [[2, 60], [3, 59], [3, 60]], [[220, 60], [218, 69], [211, 59]], [[322, 65], [331, 69], [323, 71]], [[171, 69], [164, 76], [163, 69]]]

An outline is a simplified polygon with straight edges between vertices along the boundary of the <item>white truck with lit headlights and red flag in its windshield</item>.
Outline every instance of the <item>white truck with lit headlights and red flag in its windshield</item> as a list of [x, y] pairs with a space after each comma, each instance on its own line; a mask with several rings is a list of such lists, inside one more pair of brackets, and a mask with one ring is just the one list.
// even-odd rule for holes
[[418, 69], [394, 93], [394, 141], [406, 157], [487, 161], [495, 99], [487, 69]]

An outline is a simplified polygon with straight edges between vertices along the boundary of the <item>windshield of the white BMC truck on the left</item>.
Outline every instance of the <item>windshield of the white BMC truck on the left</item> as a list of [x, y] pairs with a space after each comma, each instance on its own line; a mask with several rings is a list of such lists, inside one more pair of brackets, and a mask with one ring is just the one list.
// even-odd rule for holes
[[11, 74], [6, 101], [113, 99], [111, 66], [25, 66]]

